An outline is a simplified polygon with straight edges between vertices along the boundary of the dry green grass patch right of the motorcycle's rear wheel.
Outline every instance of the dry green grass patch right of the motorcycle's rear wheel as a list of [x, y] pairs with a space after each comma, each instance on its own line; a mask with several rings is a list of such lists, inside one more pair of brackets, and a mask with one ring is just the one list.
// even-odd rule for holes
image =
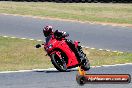
[[132, 53], [84, 49], [93, 66], [132, 63]]

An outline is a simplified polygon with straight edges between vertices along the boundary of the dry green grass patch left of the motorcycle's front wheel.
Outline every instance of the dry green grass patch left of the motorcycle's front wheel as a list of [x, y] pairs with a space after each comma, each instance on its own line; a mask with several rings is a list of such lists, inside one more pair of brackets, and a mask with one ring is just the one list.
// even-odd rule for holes
[[40, 42], [0, 37], [0, 70], [19, 70], [52, 67]]

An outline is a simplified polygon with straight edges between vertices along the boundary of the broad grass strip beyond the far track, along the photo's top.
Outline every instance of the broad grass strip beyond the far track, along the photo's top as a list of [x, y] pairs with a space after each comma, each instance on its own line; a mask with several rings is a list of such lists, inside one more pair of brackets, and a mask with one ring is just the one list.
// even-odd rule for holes
[[0, 2], [0, 13], [132, 24], [132, 4]]

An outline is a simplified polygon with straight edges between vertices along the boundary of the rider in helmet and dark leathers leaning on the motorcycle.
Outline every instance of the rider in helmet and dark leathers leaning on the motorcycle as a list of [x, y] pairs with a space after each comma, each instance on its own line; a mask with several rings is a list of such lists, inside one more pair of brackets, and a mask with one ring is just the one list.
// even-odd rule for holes
[[[67, 32], [64, 31], [60, 31], [60, 30], [56, 30], [55, 32], [53, 32], [53, 27], [52, 26], [45, 26], [43, 28], [43, 34], [46, 37], [46, 43], [49, 42], [50, 38], [52, 35], [54, 35], [57, 39], [61, 39], [61, 38], [65, 38], [68, 37], [69, 34]], [[66, 39], [66, 43], [68, 44], [68, 46], [72, 49], [72, 51], [75, 53], [76, 57], [80, 60], [81, 62], [83, 60], [83, 57], [81, 55], [81, 53], [78, 51], [78, 49], [75, 47], [75, 44], [72, 40]]]

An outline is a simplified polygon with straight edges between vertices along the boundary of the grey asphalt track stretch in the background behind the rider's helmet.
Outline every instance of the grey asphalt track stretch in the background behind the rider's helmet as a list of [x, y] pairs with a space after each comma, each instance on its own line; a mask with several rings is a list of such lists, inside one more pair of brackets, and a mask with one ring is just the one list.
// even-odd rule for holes
[[0, 14], [0, 35], [44, 40], [42, 28], [45, 25], [52, 25], [54, 29], [68, 32], [70, 39], [78, 40], [84, 46], [132, 52], [132, 28], [130, 27], [103, 26]]

